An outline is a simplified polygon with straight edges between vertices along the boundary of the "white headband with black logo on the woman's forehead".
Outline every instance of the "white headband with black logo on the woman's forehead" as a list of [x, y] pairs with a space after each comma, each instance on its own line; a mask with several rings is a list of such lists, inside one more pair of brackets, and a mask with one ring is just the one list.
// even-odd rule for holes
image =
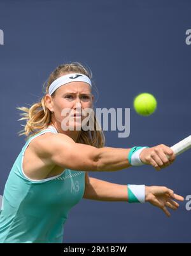
[[66, 83], [71, 83], [71, 82], [85, 82], [88, 83], [90, 86], [92, 86], [92, 83], [90, 81], [90, 78], [88, 76], [85, 76], [83, 74], [78, 74], [78, 73], [72, 73], [72, 74], [67, 74], [64, 76], [60, 76], [56, 80], [54, 80], [49, 89], [48, 89], [48, 94], [52, 95], [55, 90], [57, 90], [60, 86], [65, 85]]

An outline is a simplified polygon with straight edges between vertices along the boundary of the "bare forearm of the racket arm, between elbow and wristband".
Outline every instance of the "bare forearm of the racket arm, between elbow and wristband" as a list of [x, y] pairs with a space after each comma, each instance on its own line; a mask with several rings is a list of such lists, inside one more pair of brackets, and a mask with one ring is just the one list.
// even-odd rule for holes
[[129, 166], [128, 155], [131, 148], [99, 148], [97, 171], [117, 171]]

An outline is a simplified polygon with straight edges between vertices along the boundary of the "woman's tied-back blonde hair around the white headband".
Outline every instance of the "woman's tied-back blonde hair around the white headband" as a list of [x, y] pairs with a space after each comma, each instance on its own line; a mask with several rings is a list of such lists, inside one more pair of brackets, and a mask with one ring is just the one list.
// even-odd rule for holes
[[[70, 64], [62, 64], [58, 66], [49, 76], [48, 82], [43, 85], [45, 87], [45, 95], [48, 94], [48, 88], [50, 84], [59, 78], [62, 75], [66, 75], [67, 73], [80, 73], [88, 76], [88, 78], [92, 78], [92, 72], [87, 68], [82, 66], [79, 62], [71, 62]], [[39, 100], [39, 102], [32, 104], [30, 108], [26, 107], [18, 107], [17, 109], [23, 111], [24, 113], [20, 113], [22, 118], [18, 120], [26, 120], [26, 124], [24, 129], [18, 132], [18, 136], [25, 135], [27, 139], [31, 138], [38, 132], [46, 129], [48, 125], [52, 122], [52, 113], [46, 107], [45, 103], [45, 95]], [[52, 97], [55, 97], [55, 92], [53, 92]], [[96, 127], [99, 127], [98, 131]], [[101, 148], [105, 144], [104, 133], [100, 128], [99, 122], [97, 122], [97, 118], [94, 115], [94, 131], [80, 131], [78, 136], [78, 140], [76, 143], [83, 143], [91, 146], [95, 146], [97, 148]]]

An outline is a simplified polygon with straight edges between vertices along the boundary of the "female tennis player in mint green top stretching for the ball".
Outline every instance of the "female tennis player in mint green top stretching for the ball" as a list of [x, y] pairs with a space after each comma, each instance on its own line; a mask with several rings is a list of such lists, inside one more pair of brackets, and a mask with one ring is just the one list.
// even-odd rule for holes
[[[59, 66], [50, 75], [41, 101], [18, 108], [24, 111], [20, 120], [27, 120], [20, 132], [27, 141], [4, 188], [1, 243], [62, 243], [68, 213], [82, 198], [148, 202], [168, 217], [167, 208], [178, 209], [174, 199], [183, 201], [166, 187], [120, 185], [88, 176], [88, 171], [142, 164], [159, 170], [175, 159], [166, 145], [109, 148], [104, 146], [103, 131], [82, 129], [87, 118], [83, 111], [93, 110], [91, 77], [78, 62]], [[96, 127], [95, 115], [93, 120]]]

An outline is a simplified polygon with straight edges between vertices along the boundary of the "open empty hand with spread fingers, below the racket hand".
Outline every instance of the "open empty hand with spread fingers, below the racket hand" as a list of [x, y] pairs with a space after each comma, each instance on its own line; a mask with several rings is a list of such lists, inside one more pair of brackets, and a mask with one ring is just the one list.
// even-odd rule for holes
[[149, 202], [153, 206], [159, 207], [162, 211], [164, 211], [167, 217], [171, 216], [171, 213], [169, 213], [167, 207], [177, 210], [180, 206], [173, 199], [184, 201], [182, 196], [174, 194], [174, 191], [167, 187], [145, 187], [145, 201]]

